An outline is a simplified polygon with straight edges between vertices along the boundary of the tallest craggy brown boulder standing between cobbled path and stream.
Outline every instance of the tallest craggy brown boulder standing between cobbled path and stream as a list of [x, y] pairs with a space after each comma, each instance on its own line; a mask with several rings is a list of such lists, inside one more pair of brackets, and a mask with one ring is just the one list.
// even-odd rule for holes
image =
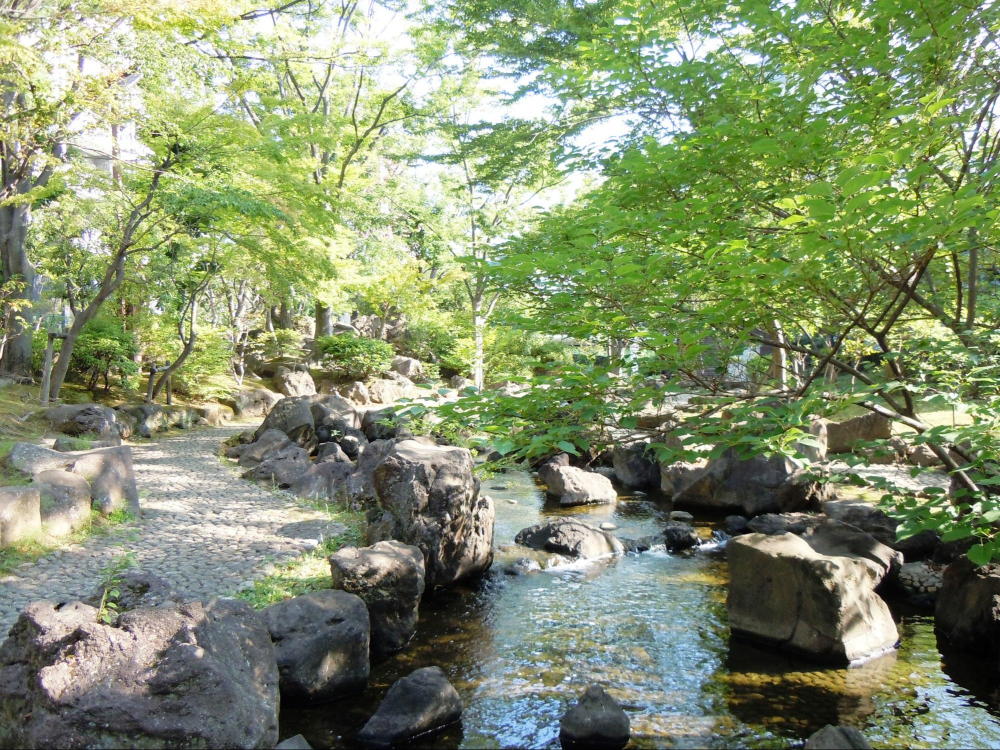
[[377, 507], [368, 513], [369, 544], [397, 539], [419, 547], [428, 588], [489, 568], [495, 510], [479, 495], [465, 448], [400, 441], [375, 466], [372, 482]]

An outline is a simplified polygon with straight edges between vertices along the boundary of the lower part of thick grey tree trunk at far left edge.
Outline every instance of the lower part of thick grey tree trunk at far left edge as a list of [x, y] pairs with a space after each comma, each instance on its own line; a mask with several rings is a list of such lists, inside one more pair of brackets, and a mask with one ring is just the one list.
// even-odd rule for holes
[[32, 307], [38, 301], [35, 267], [25, 248], [29, 209], [24, 205], [0, 206], [0, 281], [17, 281], [23, 287], [12, 294], [14, 305], [3, 310], [6, 343], [0, 371], [13, 375], [31, 375]]

